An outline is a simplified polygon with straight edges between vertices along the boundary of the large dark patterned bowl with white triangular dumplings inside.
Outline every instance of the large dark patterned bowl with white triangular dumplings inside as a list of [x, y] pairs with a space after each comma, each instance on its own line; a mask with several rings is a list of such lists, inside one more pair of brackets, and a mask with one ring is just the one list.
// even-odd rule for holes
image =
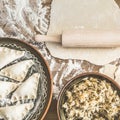
[[0, 38], [0, 120], [42, 120], [52, 81], [42, 55], [25, 42]]

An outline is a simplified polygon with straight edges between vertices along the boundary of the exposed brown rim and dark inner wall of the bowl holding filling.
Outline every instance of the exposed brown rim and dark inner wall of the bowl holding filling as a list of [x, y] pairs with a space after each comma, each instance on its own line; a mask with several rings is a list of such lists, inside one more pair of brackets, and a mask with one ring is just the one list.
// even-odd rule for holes
[[120, 86], [118, 83], [116, 83], [113, 79], [110, 77], [100, 74], [100, 73], [83, 73], [78, 75], [77, 77], [73, 78], [70, 80], [62, 89], [60, 92], [59, 98], [58, 98], [58, 103], [57, 103], [57, 113], [58, 113], [58, 118], [59, 120], [66, 120], [64, 110], [62, 108], [63, 103], [66, 101], [66, 91], [70, 90], [74, 84], [80, 83], [83, 78], [86, 77], [95, 77], [100, 80], [106, 80], [107, 82], [111, 83], [112, 87], [118, 91], [118, 94], [120, 96]]

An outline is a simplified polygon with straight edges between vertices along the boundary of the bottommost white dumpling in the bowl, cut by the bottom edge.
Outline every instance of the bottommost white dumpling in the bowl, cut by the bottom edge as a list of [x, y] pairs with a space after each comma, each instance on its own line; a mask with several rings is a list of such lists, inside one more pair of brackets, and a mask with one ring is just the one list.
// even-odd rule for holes
[[0, 108], [0, 119], [5, 120], [22, 120], [29, 111], [33, 108], [34, 104], [25, 103], [15, 106], [7, 106]]

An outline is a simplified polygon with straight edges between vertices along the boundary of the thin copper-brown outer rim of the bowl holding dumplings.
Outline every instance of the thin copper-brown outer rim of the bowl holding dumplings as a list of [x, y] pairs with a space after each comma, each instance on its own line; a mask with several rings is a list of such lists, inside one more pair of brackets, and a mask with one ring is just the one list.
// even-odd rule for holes
[[[9, 38], [9, 37], [0, 37], [0, 41], [1, 41], [1, 40], [4, 40], [4, 41], [5, 41], [5, 40], [13, 40], [13, 41], [15, 41], [16, 43], [19, 42], [19, 43], [21, 43], [21, 44], [24, 44], [24, 45], [32, 48], [32, 49], [37, 53], [37, 55], [39, 55], [39, 56], [41, 57], [42, 61], [44, 62], [45, 66], [46, 66], [46, 68], [47, 68], [47, 71], [48, 71], [48, 73], [49, 73], [49, 80], [50, 80], [50, 85], [49, 85], [49, 87], [50, 87], [50, 90], [49, 90], [49, 99], [48, 99], [48, 103], [46, 103], [47, 106], [45, 106], [44, 111], [42, 111], [43, 114], [42, 114], [41, 116], [40, 116], [40, 113], [38, 113], [38, 114], [35, 115], [37, 119], [43, 120], [43, 119], [45, 118], [48, 110], [49, 110], [50, 105], [51, 105], [51, 101], [52, 101], [52, 91], [53, 91], [52, 74], [51, 74], [51, 72], [50, 72], [50, 68], [49, 68], [49, 65], [48, 65], [47, 61], [46, 61], [45, 58], [42, 56], [42, 54], [37, 50], [37, 48], [35, 48], [34, 46], [30, 45], [30, 44], [27, 43], [26, 41], [23, 41], [23, 40], [20, 40], [20, 39], [16, 39], [16, 38]], [[6, 42], [6, 43], [7, 43], [7, 42]], [[39, 118], [39, 117], [41, 117], [41, 118]]]

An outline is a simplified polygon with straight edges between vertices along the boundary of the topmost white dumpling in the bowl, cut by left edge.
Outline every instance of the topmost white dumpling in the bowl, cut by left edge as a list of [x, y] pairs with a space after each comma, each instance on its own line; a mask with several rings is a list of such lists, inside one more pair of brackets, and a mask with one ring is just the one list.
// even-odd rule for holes
[[0, 69], [8, 63], [24, 56], [25, 51], [10, 49], [7, 47], [0, 47]]

